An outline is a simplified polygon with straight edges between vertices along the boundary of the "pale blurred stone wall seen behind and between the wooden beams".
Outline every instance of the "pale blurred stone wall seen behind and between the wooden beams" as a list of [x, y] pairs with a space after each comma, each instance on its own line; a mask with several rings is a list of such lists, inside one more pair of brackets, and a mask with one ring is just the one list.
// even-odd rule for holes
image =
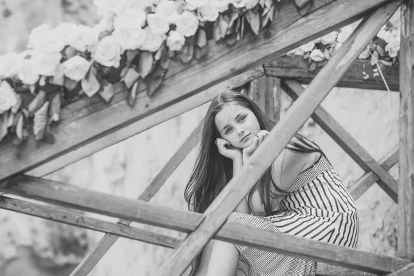
[[[3, 0], [0, 2], [0, 55], [26, 48], [30, 30], [41, 23], [62, 21], [92, 24], [97, 21], [92, 0]], [[322, 106], [376, 159], [398, 141], [398, 95], [382, 91], [335, 89]], [[283, 113], [291, 101], [282, 100]], [[181, 115], [126, 141], [106, 148], [51, 175], [64, 181], [112, 195], [136, 198], [198, 124], [206, 106]], [[312, 120], [302, 133], [316, 141], [346, 184], [363, 171]], [[153, 204], [186, 210], [184, 186], [195, 161], [195, 151], [157, 193]], [[397, 177], [394, 168], [393, 175]], [[396, 205], [377, 185], [358, 201], [359, 246], [395, 255]], [[98, 216], [97, 216], [98, 217]], [[103, 217], [104, 219], [110, 219]], [[115, 221], [115, 219], [110, 219]], [[0, 210], [0, 275], [69, 275], [77, 262], [103, 236], [63, 224]], [[134, 226], [182, 237], [179, 233], [139, 224]], [[119, 239], [92, 270], [93, 276], [153, 275], [170, 254], [169, 249]]]

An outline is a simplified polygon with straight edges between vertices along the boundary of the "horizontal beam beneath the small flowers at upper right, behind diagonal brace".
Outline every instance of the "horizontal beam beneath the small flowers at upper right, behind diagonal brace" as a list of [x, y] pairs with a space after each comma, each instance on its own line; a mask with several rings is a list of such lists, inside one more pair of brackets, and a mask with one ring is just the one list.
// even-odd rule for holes
[[[302, 84], [311, 83], [312, 79], [321, 70], [317, 68], [315, 71], [308, 70], [308, 60], [298, 55], [284, 55], [277, 57], [268, 63], [264, 63], [264, 72], [266, 76], [279, 77], [281, 79], [294, 79]], [[370, 90], [386, 90], [382, 77], [378, 75], [374, 77], [376, 66], [371, 66], [371, 61], [357, 59], [351, 68], [346, 71], [345, 75], [337, 83], [338, 87], [370, 89]], [[382, 72], [388, 87], [391, 91], [398, 92], [400, 90], [399, 70], [395, 66], [382, 66]], [[369, 76], [364, 79], [362, 72], [366, 72]]]

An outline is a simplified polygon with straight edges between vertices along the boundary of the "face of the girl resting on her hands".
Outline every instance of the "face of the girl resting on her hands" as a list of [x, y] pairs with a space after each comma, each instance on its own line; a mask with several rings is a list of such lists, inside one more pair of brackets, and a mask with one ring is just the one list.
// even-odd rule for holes
[[248, 108], [228, 103], [215, 117], [220, 137], [235, 148], [246, 148], [260, 130], [255, 114]]

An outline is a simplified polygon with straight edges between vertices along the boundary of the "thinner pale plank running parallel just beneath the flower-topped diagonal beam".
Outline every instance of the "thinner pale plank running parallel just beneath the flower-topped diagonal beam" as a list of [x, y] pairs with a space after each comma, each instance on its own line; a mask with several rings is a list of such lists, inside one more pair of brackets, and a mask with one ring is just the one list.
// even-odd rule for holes
[[[103, 137], [99, 137], [92, 143], [82, 146], [77, 150], [67, 152], [64, 155], [57, 157], [56, 159], [52, 159], [52, 161], [48, 161], [46, 164], [43, 164], [33, 170], [26, 172], [26, 175], [31, 175], [34, 177], [43, 177], [48, 175], [50, 172], [54, 172], [59, 168], [63, 168], [64, 166], [68, 166], [75, 161], [78, 161], [84, 157], [92, 155], [99, 150], [103, 150], [103, 148], [107, 148], [108, 146], [112, 146], [112, 144], [116, 144], [119, 141], [132, 137], [133, 135], [137, 135], [148, 128], [152, 128], [157, 124], [161, 124], [172, 117], [176, 117], [188, 110], [196, 108], [197, 106], [201, 106], [201, 104], [206, 103], [213, 99], [213, 97], [221, 94], [222, 92], [236, 88], [238, 86], [242, 86], [248, 81], [252, 81], [257, 77], [261, 77], [264, 75], [264, 72], [261, 68], [253, 68], [243, 72], [236, 77], [232, 77], [227, 81], [217, 84], [212, 88], [208, 88], [203, 92], [199, 92], [198, 94], [187, 98], [185, 101], [179, 101], [172, 106], [168, 106], [164, 109], [159, 110], [139, 121], [135, 121], [126, 128], [119, 128], [115, 130], [115, 132], [110, 132]], [[86, 108], [86, 107], [84, 107]], [[72, 115], [72, 113], [70, 113]], [[70, 116], [70, 115], [66, 115]], [[74, 116], [74, 115], [72, 115]], [[0, 150], [1, 151], [1, 150]], [[0, 161], [1, 165], [1, 161]]]

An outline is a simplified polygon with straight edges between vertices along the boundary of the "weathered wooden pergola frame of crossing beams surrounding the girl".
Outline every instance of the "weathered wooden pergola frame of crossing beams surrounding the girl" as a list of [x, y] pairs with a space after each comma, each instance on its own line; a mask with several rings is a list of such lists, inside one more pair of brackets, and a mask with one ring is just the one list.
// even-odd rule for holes
[[[301, 16], [293, 1], [282, 1], [281, 8], [275, 11], [272, 26], [258, 37], [246, 35], [233, 47], [217, 43], [210, 48], [208, 57], [204, 59], [186, 65], [176, 63], [171, 66], [160, 88], [161, 92], [151, 99], [146, 93], [139, 93], [134, 108], [127, 106], [126, 91], [121, 89], [110, 105], [95, 98], [70, 103], [62, 110], [54, 146], [39, 146], [34, 139], [19, 147], [12, 144], [1, 146], [0, 192], [52, 205], [41, 206], [0, 194], [0, 208], [106, 233], [77, 266], [71, 274], [73, 276], [87, 275], [118, 237], [175, 248], [170, 258], [159, 268], [156, 274], [159, 276], [179, 276], [184, 273], [193, 257], [210, 239], [311, 259], [317, 262], [317, 275], [413, 275], [414, 1], [313, 2], [311, 10]], [[363, 66], [366, 61], [355, 61], [359, 53], [400, 6], [400, 69], [398, 72], [389, 68], [390, 72], [386, 73], [386, 81], [391, 90], [400, 91], [400, 143], [380, 161], [376, 161], [319, 104], [335, 86], [384, 89], [382, 80], [364, 81], [362, 76], [355, 75], [352, 68]], [[363, 20], [351, 37], [317, 74], [308, 72], [306, 64], [298, 58], [278, 57], [359, 19]], [[290, 66], [282, 66], [283, 64]], [[148, 203], [197, 144], [201, 123], [139, 195], [137, 201], [41, 179], [50, 172], [206, 103], [229, 88], [244, 86], [246, 83], [250, 83], [252, 91], [279, 87], [277, 84], [280, 83], [280, 87], [295, 99], [295, 103], [271, 130], [268, 139], [256, 150], [249, 163], [230, 180], [204, 214], [172, 210]], [[306, 89], [301, 83], [308, 84]], [[279, 92], [279, 89], [274, 90], [266, 97], [277, 97]], [[262, 104], [268, 101], [267, 98]], [[112, 116], [114, 114], [116, 116]], [[398, 203], [398, 257], [226, 223], [228, 215], [308, 117], [313, 117], [365, 171], [351, 186], [354, 199], [377, 182]], [[400, 166], [399, 181], [388, 173], [397, 162]], [[62, 210], [53, 207], [54, 205], [118, 217], [121, 220], [118, 223], [103, 221]], [[179, 230], [188, 235], [179, 240], [131, 227], [131, 221]]]

